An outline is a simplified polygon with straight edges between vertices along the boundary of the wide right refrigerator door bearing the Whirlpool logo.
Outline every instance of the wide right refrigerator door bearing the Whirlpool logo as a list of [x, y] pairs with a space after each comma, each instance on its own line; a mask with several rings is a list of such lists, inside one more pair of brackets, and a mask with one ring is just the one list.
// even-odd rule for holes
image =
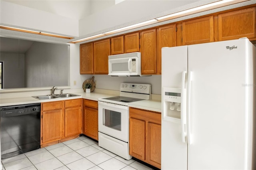
[[243, 39], [188, 46], [188, 170], [247, 169], [252, 164], [248, 103], [255, 84], [248, 43]]

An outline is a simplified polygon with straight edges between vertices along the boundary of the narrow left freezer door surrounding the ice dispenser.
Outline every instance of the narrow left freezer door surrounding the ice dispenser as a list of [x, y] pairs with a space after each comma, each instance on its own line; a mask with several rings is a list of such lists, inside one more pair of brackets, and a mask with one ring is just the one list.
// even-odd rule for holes
[[[182, 87], [182, 72], [187, 72], [187, 53], [187, 46], [162, 48], [162, 93], [164, 87]], [[164, 111], [170, 111], [170, 103], [162, 99], [162, 108], [166, 109], [162, 109], [161, 169], [187, 169], [187, 142], [182, 142], [180, 116], [170, 114], [164, 119]]]

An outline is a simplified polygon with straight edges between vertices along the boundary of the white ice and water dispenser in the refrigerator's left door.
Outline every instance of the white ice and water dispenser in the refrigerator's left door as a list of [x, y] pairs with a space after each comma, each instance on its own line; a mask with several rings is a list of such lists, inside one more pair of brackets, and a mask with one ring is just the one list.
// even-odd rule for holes
[[163, 87], [164, 120], [180, 119], [180, 108], [182, 103], [181, 89]]

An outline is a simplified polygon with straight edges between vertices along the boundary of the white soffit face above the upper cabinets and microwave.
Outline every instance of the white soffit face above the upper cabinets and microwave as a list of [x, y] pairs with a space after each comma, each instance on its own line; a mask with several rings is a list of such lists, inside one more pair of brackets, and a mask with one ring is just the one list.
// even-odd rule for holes
[[164, 14], [160, 14], [164, 11], [197, 1], [199, 0], [125, 0], [79, 20], [79, 35], [90, 35], [100, 31], [102, 33], [102, 30], [114, 30], [150, 20], [156, 16], [163, 16]]

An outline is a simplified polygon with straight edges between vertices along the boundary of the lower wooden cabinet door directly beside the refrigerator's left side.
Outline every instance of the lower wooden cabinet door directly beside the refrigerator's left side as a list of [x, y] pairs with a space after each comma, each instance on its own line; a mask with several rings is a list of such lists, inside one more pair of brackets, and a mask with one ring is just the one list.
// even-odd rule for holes
[[147, 162], [161, 169], [161, 125], [148, 123]]

